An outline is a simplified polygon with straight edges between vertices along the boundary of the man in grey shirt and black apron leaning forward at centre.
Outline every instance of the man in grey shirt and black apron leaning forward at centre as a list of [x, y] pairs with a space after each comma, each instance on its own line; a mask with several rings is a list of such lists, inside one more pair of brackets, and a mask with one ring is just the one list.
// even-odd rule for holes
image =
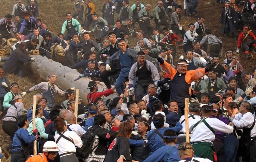
[[[159, 74], [156, 66], [150, 61], [146, 60], [146, 55], [144, 52], [138, 52], [137, 60], [138, 62], [132, 65], [129, 72], [129, 88], [133, 87], [134, 77], [138, 77], [135, 88], [137, 92], [137, 101], [139, 101], [142, 99], [144, 93], [148, 93], [148, 85], [159, 81]], [[153, 76], [154, 81], [151, 76]]]

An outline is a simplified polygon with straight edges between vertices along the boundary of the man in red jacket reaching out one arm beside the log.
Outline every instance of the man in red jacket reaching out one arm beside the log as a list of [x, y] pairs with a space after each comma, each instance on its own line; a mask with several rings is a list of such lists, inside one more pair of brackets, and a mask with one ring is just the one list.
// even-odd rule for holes
[[110, 94], [112, 94], [113, 91], [115, 90], [115, 87], [113, 86], [112, 88], [109, 88], [104, 92], [97, 92], [98, 91], [97, 83], [95, 81], [90, 81], [88, 83], [88, 89], [90, 89], [90, 93], [87, 95], [87, 100], [88, 100], [88, 103], [92, 103], [94, 99], [96, 99], [97, 97], [102, 97], [103, 95], [107, 97]]

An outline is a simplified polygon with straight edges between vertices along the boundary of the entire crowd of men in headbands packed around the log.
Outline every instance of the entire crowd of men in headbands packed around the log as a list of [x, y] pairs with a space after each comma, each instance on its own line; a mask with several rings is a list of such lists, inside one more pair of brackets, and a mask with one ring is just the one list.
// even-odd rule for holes
[[[132, 5], [129, 0], [104, 0], [100, 11], [90, 0], [72, 1], [75, 12], [65, 14], [57, 36], [40, 19], [36, 0], [26, 6], [17, 0], [12, 14], [0, 19], [0, 49], [7, 44], [3, 38], [15, 35], [18, 40], [0, 65], [0, 118], [10, 136], [2, 147], [6, 158], [11, 155], [12, 162], [256, 162], [256, 67], [245, 72], [239, 62], [240, 58], [248, 62], [256, 50], [250, 28], [256, 24], [256, 2], [216, 0], [225, 4], [220, 14], [225, 41], [238, 35], [236, 51], [234, 47], [223, 51], [224, 42], [211, 34], [204, 24], [207, 18], [196, 9], [198, 0], [184, 0], [184, 12], [175, 1], [160, 0], [152, 15], [151, 4], [140, 0]], [[241, 12], [237, 5], [243, 6]], [[198, 19], [182, 26], [183, 16]], [[138, 38], [137, 44], [129, 42], [131, 36]], [[184, 52], [179, 59], [177, 48]], [[74, 82], [82, 84], [83, 77], [90, 78], [88, 104], [79, 100], [76, 105], [72, 83], [68, 90], [59, 89], [54, 71], [46, 82], [19, 94], [19, 84], [3, 75], [22, 78], [23, 64], [36, 61], [30, 57], [36, 53], [78, 70], [81, 75]], [[221, 63], [223, 53], [226, 59]], [[107, 90], [99, 92], [99, 81]], [[42, 93], [36, 94], [36, 107], [26, 110], [22, 98], [37, 90]], [[57, 94], [66, 98], [60, 105]], [[106, 99], [110, 95], [114, 97]], [[38, 154], [31, 157], [33, 149]]]

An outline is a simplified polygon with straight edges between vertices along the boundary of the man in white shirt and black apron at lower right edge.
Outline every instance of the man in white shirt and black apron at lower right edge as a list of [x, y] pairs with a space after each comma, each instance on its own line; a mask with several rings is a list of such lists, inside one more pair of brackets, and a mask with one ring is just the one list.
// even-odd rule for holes
[[[237, 109], [234, 109], [238, 113]], [[234, 125], [238, 128], [243, 128], [243, 136], [242, 141], [242, 158], [243, 161], [251, 162], [256, 161], [256, 125], [255, 118], [252, 115], [252, 107], [251, 104], [247, 101], [240, 103], [239, 112], [233, 116], [229, 117], [229, 121], [234, 123]], [[233, 112], [233, 114], [235, 114]]]

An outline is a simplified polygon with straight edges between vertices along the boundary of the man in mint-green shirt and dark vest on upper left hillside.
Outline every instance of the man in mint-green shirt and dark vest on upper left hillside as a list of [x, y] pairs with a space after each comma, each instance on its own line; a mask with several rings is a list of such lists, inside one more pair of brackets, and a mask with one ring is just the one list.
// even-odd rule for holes
[[80, 23], [75, 19], [71, 18], [71, 13], [66, 13], [67, 20], [64, 21], [61, 29], [61, 33], [64, 34], [66, 29], [68, 33], [64, 36], [64, 40], [70, 40], [72, 39], [72, 36], [78, 32], [78, 34], [81, 34], [81, 25]]

